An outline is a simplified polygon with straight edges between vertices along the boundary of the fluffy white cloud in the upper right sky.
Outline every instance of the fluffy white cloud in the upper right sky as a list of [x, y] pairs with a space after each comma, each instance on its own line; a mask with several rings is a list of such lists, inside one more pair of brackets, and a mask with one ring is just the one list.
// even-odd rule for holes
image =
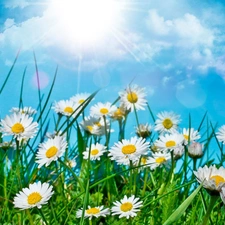
[[196, 45], [213, 45], [213, 32], [204, 27], [196, 16], [189, 13], [180, 18], [166, 20], [158, 14], [157, 10], [151, 9], [146, 25], [157, 38], [166, 38], [173, 45], [187, 48]]

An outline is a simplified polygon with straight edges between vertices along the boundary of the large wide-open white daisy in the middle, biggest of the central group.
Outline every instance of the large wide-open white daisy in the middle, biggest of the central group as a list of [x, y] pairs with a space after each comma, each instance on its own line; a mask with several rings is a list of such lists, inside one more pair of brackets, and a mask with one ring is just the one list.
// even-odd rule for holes
[[129, 165], [130, 161], [136, 163], [141, 156], [147, 155], [148, 150], [149, 142], [146, 142], [144, 138], [132, 137], [130, 140], [123, 139], [116, 143], [109, 150], [109, 156], [118, 164]]

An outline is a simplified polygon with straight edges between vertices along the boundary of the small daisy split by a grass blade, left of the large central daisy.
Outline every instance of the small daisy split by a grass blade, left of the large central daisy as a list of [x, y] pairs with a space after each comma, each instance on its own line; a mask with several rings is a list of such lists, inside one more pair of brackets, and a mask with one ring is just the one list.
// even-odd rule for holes
[[84, 159], [88, 159], [90, 151], [90, 160], [100, 160], [100, 156], [103, 155], [104, 152], [106, 152], [106, 146], [96, 143], [91, 144], [91, 148], [86, 148], [86, 151], [83, 152]]

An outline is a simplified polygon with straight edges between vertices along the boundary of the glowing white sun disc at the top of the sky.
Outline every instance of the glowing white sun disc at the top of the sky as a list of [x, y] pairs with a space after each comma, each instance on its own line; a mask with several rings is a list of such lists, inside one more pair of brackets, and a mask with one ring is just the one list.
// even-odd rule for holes
[[52, 0], [49, 10], [59, 32], [67, 39], [93, 43], [115, 25], [120, 4], [115, 0]]

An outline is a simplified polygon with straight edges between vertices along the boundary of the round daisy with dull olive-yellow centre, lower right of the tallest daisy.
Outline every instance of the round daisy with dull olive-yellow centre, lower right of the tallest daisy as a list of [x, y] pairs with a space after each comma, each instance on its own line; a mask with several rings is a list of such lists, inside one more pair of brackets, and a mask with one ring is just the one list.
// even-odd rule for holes
[[158, 119], [155, 121], [155, 131], [162, 132], [175, 132], [180, 123], [180, 115], [174, 112], [161, 112], [157, 114]]

